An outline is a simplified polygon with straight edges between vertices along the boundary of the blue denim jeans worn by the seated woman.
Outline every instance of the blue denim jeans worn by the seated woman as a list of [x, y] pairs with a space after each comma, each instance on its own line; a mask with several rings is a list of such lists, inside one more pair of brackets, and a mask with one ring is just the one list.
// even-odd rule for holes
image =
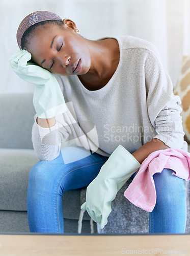
[[[82, 155], [80, 155], [82, 153]], [[77, 156], [78, 160], [72, 161]], [[28, 187], [28, 220], [31, 232], [63, 233], [64, 191], [88, 186], [98, 175], [107, 157], [97, 153], [65, 147], [59, 157], [39, 161], [30, 172]], [[67, 162], [67, 163], [65, 163]], [[156, 205], [149, 214], [150, 233], [184, 233], [186, 199], [184, 180], [164, 169], [153, 176]]]

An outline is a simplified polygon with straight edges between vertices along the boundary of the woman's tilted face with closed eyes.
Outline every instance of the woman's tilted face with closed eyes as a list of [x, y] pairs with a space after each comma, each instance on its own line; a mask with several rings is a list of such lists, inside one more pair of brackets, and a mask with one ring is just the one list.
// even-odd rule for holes
[[84, 38], [74, 28], [63, 23], [45, 25], [36, 29], [27, 50], [39, 66], [58, 75], [86, 74], [91, 58]]

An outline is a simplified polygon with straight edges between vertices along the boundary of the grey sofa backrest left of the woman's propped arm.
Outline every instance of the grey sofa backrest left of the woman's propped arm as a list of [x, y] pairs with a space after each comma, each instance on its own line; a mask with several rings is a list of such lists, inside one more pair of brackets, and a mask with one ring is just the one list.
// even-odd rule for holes
[[33, 94], [0, 95], [0, 148], [33, 148]]

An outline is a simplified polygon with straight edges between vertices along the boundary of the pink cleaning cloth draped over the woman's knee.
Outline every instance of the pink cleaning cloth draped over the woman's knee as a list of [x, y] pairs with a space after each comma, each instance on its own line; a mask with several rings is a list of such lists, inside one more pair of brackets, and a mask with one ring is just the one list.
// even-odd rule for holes
[[141, 164], [124, 196], [143, 210], [152, 211], [156, 204], [156, 189], [152, 176], [161, 173], [164, 168], [174, 170], [173, 175], [185, 181], [190, 180], [190, 154], [172, 148], [151, 153]]

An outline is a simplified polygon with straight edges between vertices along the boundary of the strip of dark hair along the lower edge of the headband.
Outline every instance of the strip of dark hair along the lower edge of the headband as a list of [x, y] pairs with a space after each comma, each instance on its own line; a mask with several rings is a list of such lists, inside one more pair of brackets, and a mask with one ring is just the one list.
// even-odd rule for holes
[[[62, 27], [63, 23], [61, 20], [51, 19], [51, 20], [44, 20], [43, 22], [36, 23], [26, 29], [26, 31], [23, 33], [21, 38], [21, 49], [27, 48], [27, 45], [29, 44], [31, 36], [34, 34], [37, 28], [45, 26], [45, 25], [58, 25]], [[25, 49], [26, 50], [26, 49]]]

